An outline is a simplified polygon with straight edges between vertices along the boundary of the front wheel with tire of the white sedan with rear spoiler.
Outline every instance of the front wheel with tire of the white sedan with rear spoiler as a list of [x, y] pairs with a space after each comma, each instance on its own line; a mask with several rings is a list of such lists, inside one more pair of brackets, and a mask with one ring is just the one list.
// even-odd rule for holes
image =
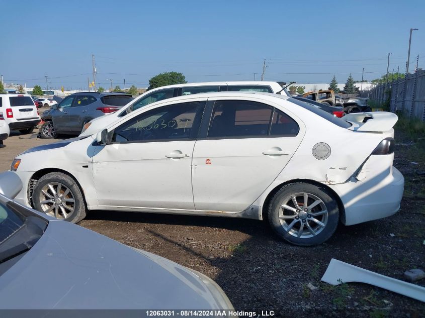
[[60, 172], [48, 173], [38, 180], [33, 204], [40, 212], [58, 220], [77, 223], [86, 217], [86, 205], [78, 184]]

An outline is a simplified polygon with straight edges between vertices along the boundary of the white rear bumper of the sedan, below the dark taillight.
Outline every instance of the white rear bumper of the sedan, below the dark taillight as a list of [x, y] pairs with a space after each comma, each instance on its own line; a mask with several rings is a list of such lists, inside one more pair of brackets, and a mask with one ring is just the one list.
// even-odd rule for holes
[[389, 173], [382, 175], [385, 176], [330, 185], [344, 204], [345, 216], [342, 221], [345, 225], [386, 218], [399, 210], [404, 177], [393, 166], [389, 168]]

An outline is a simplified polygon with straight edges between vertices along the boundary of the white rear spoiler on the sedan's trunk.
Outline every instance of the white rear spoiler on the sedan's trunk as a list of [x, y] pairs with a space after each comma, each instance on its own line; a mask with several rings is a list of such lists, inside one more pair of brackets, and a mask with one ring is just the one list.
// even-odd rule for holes
[[348, 129], [358, 132], [387, 132], [397, 123], [398, 117], [388, 112], [352, 113], [343, 120], [352, 124]]

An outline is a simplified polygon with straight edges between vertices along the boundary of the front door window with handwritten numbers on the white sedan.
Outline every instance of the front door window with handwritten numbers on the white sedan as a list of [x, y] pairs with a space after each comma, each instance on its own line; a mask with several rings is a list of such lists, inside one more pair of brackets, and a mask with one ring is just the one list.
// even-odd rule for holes
[[140, 114], [114, 130], [112, 142], [189, 140], [197, 136], [202, 105], [193, 101], [166, 105]]

